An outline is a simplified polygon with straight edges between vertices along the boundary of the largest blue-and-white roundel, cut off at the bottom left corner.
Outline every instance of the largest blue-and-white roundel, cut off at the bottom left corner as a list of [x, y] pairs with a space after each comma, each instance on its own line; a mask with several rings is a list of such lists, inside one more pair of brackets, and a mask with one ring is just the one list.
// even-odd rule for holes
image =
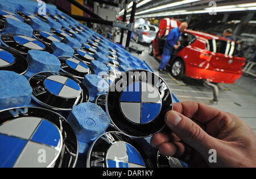
[[51, 166], [62, 146], [59, 128], [48, 120], [35, 117], [10, 120], [0, 126], [0, 167]]

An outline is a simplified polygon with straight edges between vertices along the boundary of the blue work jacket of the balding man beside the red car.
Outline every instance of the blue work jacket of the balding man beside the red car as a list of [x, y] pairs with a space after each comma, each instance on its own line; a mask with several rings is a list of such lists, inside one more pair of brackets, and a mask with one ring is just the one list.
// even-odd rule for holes
[[174, 48], [174, 45], [177, 43], [181, 36], [181, 32], [179, 31], [179, 27], [174, 28], [171, 30], [171, 32], [168, 34], [166, 41], [164, 42], [164, 49], [163, 49], [163, 55], [172, 55], [172, 49]]

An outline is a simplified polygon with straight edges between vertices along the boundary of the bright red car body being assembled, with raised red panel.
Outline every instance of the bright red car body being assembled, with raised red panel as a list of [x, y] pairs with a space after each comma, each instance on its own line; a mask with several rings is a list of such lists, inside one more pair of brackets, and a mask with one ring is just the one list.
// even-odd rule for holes
[[[160, 51], [164, 45], [161, 37], [166, 34], [167, 29], [170, 28], [160, 29], [151, 43], [152, 52], [160, 59]], [[171, 57], [169, 64], [172, 65], [176, 59], [183, 61], [184, 76], [227, 84], [233, 84], [242, 76], [245, 58], [239, 57], [237, 43], [220, 36], [192, 30], [185, 30], [183, 36], [190, 38], [188, 44]]]

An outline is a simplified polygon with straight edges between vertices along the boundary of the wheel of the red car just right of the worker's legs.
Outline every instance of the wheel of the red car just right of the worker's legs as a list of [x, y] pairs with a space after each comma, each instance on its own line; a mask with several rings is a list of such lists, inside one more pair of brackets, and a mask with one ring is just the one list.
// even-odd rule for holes
[[181, 80], [184, 77], [184, 69], [184, 62], [181, 59], [175, 59], [174, 63], [171, 65], [171, 75], [174, 78]]

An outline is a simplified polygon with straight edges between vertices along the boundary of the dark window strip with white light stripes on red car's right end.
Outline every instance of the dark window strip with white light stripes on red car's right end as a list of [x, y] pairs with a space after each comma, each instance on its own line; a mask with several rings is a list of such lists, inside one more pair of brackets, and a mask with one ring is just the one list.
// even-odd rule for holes
[[210, 39], [206, 41], [208, 51], [229, 56], [239, 55], [239, 47], [234, 41]]

